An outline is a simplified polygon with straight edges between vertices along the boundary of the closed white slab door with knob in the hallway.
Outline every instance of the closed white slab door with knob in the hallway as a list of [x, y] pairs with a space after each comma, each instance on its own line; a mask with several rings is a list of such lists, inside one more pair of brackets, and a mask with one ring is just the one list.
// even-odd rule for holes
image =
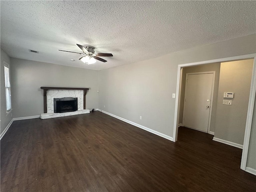
[[208, 131], [214, 73], [186, 74], [183, 126]]

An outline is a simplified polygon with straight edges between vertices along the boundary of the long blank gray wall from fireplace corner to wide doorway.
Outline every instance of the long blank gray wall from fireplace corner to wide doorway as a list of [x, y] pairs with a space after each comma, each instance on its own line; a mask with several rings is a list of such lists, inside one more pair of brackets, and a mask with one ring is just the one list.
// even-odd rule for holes
[[166, 62], [163, 56], [100, 71], [100, 109], [172, 136], [177, 66]]

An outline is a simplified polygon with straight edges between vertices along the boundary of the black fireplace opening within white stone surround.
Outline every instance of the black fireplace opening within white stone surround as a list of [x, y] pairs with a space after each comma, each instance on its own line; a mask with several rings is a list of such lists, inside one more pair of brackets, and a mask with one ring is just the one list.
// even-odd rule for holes
[[77, 111], [77, 98], [54, 98], [54, 113]]

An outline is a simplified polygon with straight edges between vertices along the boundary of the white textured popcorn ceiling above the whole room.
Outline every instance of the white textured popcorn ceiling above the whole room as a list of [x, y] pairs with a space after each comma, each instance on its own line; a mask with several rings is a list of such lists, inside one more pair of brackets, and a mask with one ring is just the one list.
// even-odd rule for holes
[[[1, 48], [10, 57], [93, 70], [256, 33], [255, 1], [1, 0], [0, 6]], [[58, 51], [82, 52], [76, 44], [114, 56], [86, 65], [79, 54]]]

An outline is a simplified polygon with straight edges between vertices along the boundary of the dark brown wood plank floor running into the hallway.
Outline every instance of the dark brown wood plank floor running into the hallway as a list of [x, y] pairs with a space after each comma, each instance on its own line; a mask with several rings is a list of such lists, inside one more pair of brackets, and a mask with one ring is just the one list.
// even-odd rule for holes
[[14, 121], [1, 140], [1, 192], [250, 192], [242, 150], [179, 128], [174, 143], [101, 112]]

